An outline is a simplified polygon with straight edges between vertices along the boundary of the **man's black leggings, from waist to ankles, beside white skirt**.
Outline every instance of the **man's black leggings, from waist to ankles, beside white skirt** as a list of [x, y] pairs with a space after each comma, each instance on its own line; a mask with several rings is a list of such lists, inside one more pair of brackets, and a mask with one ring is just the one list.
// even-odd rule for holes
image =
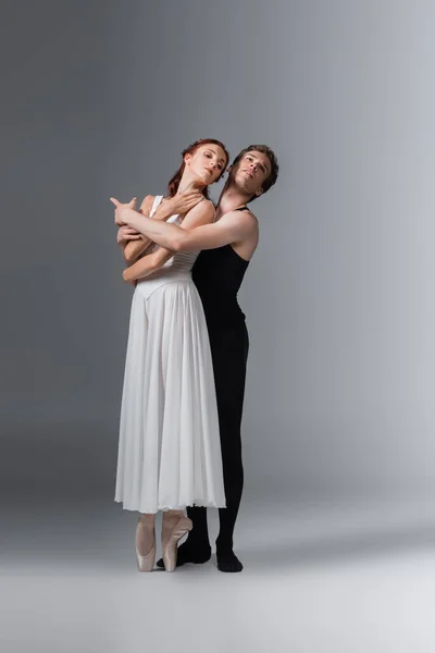
[[[233, 533], [244, 488], [241, 415], [249, 338], [245, 321], [237, 325], [208, 323], [221, 433], [226, 508], [220, 508], [219, 549], [233, 549]], [[188, 508], [195, 537], [208, 540], [206, 508]]]

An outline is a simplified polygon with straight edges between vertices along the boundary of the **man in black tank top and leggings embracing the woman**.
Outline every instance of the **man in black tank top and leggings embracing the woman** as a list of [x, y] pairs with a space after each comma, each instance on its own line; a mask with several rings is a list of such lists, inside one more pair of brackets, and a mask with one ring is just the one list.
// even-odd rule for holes
[[[216, 558], [217, 568], [228, 572], [243, 569], [233, 551], [233, 534], [244, 484], [240, 424], [249, 341], [237, 292], [259, 239], [258, 220], [246, 205], [269, 190], [277, 174], [278, 164], [271, 148], [264, 145], [245, 148], [229, 168], [215, 222], [194, 230], [147, 218], [113, 201], [116, 222], [126, 225], [121, 226], [126, 239], [133, 234], [132, 230], [136, 230], [173, 251], [202, 250], [194, 266], [192, 278], [202, 300], [213, 359], [226, 495], [226, 508], [219, 510]], [[198, 195], [196, 201], [201, 199]], [[186, 201], [191, 205], [191, 194]], [[123, 244], [121, 230], [119, 242]], [[133, 267], [140, 271], [140, 264], [139, 259]], [[207, 509], [189, 507], [187, 513], [194, 529], [178, 547], [177, 566], [202, 564], [211, 557]], [[163, 566], [162, 560], [157, 564]]]

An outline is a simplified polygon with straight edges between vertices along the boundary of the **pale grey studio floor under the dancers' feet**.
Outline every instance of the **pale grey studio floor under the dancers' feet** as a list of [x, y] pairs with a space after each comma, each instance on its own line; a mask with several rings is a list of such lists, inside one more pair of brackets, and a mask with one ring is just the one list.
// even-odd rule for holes
[[2, 653], [435, 651], [435, 505], [246, 500], [238, 575], [139, 574], [134, 514], [42, 505], [3, 512]]

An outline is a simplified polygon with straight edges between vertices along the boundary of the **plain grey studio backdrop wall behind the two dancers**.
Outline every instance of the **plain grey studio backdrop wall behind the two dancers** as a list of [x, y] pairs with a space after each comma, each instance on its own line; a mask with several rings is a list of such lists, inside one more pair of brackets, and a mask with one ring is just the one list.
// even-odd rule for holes
[[108, 198], [164, 192], [207, 136], [281, 162], [240, 294], [246, 496], [434, 496], [434, 3], [3, 7], [14, 496], [112, 501], [132, 293]]

